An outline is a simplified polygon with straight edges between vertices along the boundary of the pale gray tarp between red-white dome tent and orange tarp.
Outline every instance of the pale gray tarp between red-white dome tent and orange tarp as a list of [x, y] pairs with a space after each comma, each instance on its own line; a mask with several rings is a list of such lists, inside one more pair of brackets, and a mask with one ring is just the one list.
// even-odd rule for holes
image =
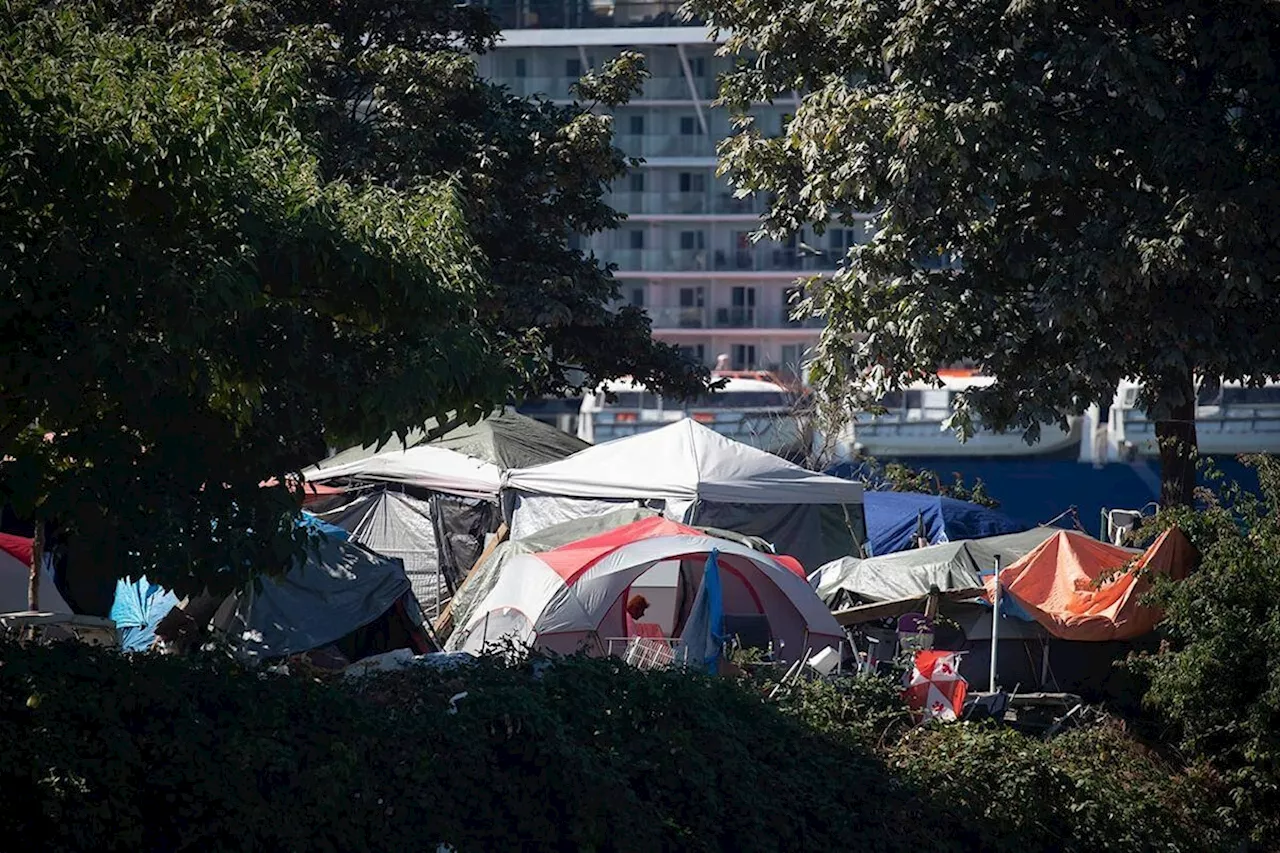
[[964, 539], [884, 555], [883, 557], [841, 557], [813, 575], [818, 596], [828, 606], [845, 601], [895, 601], [925, 596], [931, 587], [941, 590], [982, 587], [980, 573], [995, 567], [996, 555], [1007, 566], [1030, 553], [1059, 528], [1033, 528], [986, 539]]

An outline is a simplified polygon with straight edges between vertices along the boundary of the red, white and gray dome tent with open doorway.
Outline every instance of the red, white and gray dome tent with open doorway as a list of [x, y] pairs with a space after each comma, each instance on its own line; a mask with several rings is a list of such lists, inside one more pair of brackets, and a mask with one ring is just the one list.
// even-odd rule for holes
[[[535, 648], [604, 654], [627, 635], [626, 603], [640, 578], [659, 564], [678, 564], [681, 585], [698, 589], [707, 557], [718, 551], [726, 622], [764, 617], [777, 656], [795, 661], [805, 649], [838, 648], [844, 630], [788, 562], [709, 537], [668, 519], [636, 521], [571, 544], [512, 560], [472, 611], [456, 648], [480, 652], [503, 639]], [[694, 596], [677, 605], [678, 635]]]

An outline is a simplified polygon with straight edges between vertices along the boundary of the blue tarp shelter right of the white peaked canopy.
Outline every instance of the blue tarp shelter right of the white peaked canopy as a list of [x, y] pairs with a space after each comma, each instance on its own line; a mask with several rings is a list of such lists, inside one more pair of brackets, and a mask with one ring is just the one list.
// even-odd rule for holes
[[876, 557], [915, 548], [922, 534], [928, 544], [938, 544], [1028, 529], [997, 510], [937, 494], [869, 491], [863, 506], [868, 551]]

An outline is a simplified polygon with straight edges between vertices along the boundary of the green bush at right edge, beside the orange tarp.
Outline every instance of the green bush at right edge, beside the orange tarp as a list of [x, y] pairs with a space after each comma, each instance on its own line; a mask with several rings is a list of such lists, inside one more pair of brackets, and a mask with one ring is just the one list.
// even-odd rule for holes
[[1166, 642], [1133, 665], [1180, 748], [1222, 774], [1235, 808], [1220, 818], [1263, 840], [1280, 831], [1280, 462], [1244, 461], [1258, 493], [1211, 470], [1217, 489], [1199, 492], [1201, 508], [1148, 525], [1183, 528], [1201, 565], [1184, 581], [1157, 583]]

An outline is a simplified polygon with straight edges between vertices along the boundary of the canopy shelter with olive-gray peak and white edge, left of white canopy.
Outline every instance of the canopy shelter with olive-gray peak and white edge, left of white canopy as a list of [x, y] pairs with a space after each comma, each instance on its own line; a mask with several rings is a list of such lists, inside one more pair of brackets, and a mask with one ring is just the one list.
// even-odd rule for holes
[[498, 526], [503, 471], [588, 447], [509, 409], [425, 441], [435, 428], [428, 423], [381, 448], [353, 447], [303, 471], [308, 483], [349, 487], [314, 511], [378, 553], [401, 558], [415, 596], [433, 615]]

